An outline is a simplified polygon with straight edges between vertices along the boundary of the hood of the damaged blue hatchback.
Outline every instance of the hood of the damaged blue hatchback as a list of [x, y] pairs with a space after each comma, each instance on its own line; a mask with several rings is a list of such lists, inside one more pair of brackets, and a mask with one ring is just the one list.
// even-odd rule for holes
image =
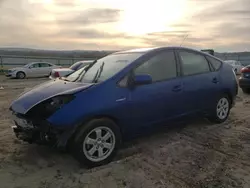
[[93, 84], [80, 82], [66, 82], [63, 80], [51, 80], [22, 93], [11, 104], [14, 112], [25, 114], [32, 107], [51, 97], [64, 94], [74, 94]]

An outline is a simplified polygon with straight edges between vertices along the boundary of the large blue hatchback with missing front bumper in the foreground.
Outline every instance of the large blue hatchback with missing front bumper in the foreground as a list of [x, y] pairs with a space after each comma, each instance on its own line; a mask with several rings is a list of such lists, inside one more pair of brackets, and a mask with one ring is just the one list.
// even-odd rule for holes
[[222, 60], [183, 47], [107, 55], [50, 80], [11, 104], [17, 138], [69, 148], [82, 164], [106, 164], [121, 141], [185, 117], [222, 123], [238, 84]]

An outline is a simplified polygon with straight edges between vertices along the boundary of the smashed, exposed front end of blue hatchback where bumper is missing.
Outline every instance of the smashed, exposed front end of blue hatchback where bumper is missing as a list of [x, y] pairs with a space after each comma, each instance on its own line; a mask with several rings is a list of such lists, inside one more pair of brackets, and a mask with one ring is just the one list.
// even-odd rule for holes
[[30, 119], [25, 115], [13, 113], [13, 132], [19, 140], [43, 145], [50, 145], [65, 150], [73, 129], [54, 128], [48, 121]]

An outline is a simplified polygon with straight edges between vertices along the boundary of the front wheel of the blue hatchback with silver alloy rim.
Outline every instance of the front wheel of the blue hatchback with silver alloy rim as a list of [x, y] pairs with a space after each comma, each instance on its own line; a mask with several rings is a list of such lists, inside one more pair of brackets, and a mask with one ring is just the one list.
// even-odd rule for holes
[[112, 161], [120, 143], [120, 130], [112, 120], [94, 119], [75, 135], [73, 156], [86, 167], [104, 165]]

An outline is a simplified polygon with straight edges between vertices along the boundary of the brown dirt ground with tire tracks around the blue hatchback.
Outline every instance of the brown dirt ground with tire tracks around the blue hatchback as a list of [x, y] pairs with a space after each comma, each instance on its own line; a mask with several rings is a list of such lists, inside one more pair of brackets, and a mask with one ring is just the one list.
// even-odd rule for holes
[[165, 129], [127, 143], [114, 162], [91, 170], [68, 154], [15, 139], [8, 107], [46, 79], [0, 76], [0, 187], [250, 187], [250, 96], [239, 93], [230, 118]]

